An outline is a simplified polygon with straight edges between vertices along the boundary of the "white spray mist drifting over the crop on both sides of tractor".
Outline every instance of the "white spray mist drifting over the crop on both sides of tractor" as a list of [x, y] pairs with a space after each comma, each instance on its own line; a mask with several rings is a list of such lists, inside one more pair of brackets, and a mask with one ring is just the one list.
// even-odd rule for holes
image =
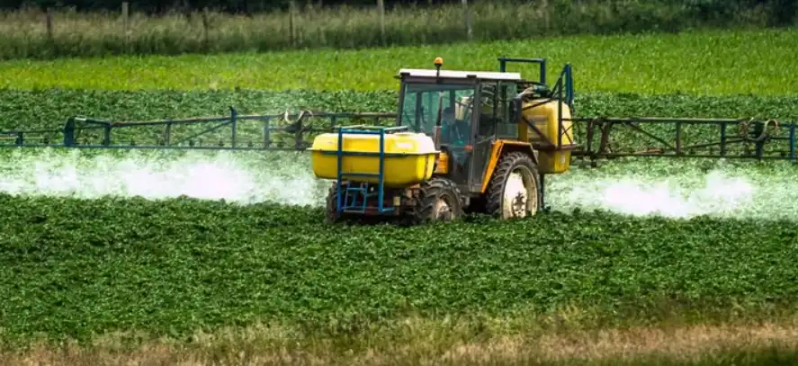
[[[707, 165], [709, 164], [709, 165]], [[632, 216], [798, 219], [789, 165], [645, 159], [547, 178], [554, 210]], [[180, 195], [250, 204], [321, 205], [328, 183], [307, 153], [14, 151], [0, 158], [0, 192], [97, 198]]]

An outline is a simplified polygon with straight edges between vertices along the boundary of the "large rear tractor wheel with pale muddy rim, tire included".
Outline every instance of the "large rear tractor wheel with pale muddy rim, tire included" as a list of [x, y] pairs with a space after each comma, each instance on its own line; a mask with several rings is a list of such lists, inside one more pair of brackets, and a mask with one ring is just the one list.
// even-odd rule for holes
[[537, 168], [528, 154], [520, 151], [503, 156], [486, 192], [485, 210], [499, 219], [534, 216], [540, 203]]

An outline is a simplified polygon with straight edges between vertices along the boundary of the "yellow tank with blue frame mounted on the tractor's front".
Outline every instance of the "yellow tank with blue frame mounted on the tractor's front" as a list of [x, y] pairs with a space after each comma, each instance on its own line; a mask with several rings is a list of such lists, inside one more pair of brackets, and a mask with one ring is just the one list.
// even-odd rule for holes
[[[309, 147], [313, 174], [321, 179], [337, 178], [338, 134], [325, 133]], [[344, 134], [347, 152], [380, 152], [379, 135]], [[322, 151], [328, 152], [327, 154]], [[405, 187], [432, 177], [435, 165], [435, 143], [423, 133], [399, 132], [385, 135], [384, 183], [389, 187]], [[380, 156], [342, 156], [345, 174], [380, 173]], [[379, 183], [377, 177], [346, 178], [358, 182]]]

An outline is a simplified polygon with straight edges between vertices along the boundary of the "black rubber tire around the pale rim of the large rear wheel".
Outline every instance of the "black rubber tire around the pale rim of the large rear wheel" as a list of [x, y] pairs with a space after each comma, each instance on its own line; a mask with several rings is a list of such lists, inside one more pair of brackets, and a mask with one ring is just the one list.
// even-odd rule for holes
[[[505, 191], [511, 174], [520, 173], [525, 187], [525, 202], [518, 206], [505, 208]], [[514, 219], [534, 216], [540, 210], [540, 174], [532, 157], [520, 151], [509, 153], [501, 160], [493, 172], [486, 192], [485, 211], [499, 219]], [[525, 206], [525, 207], [524, 207]], [[507, 209], [507, 210], [506, 210]]]

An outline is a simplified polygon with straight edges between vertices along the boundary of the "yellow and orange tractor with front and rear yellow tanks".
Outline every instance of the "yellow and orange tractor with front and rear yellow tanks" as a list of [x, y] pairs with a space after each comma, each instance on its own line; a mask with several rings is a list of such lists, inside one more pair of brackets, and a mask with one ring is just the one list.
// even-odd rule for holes
[[[571, 130], [569, 65], [553, 87], [545, 60], [499, 58], [498, 72], [400, 69], [395, 126], [346, 126], [315, 138], [313, 171], [334, 181], [327, 221], [357, 216], [412, 225], [480, 212], [535, 215], [545, 174], [566, 172], [577, 147]], [[507, 72], [536, 63], [540, 80]]]

